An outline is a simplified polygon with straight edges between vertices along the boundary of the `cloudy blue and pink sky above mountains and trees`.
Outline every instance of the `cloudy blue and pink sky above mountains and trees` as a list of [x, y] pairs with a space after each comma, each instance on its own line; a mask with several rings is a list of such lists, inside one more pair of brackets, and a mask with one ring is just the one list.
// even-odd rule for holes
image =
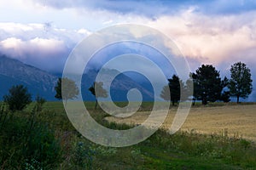
[[[222, 77], [247, 64], [256, 88], [254, 0], [8, 0], [0, 2], [0, 54], [51, 72], [84, 37], [117, 24], [150, 26], [177, 44], [191, 71], [214, 65]], [[58, 62], [57, 62], [58, 61]], [[249, 99], [256, 100], [256, 93]]]

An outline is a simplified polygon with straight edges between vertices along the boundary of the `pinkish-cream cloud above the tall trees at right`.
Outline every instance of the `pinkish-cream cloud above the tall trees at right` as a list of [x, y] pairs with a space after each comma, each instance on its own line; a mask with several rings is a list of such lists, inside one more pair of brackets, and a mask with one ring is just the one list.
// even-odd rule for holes
[[253, 48], [256, 52], [255, 16], [256, 12], [206, 16], [184, 11], [180, 16], [163, 16], [147, 25], [173, 38], [185, 56], [218, 65], [235, 58], [251, 59], [247, 53]]

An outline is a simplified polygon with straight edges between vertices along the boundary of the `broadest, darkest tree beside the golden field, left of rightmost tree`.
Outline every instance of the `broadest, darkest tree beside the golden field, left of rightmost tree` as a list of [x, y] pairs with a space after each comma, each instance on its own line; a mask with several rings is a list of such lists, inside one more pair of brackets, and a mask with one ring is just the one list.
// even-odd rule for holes
[[212, 65], [201, 65], [195, 73], [194, 79], [195, 99], [201, 100], [202, 105], [215, 102], [220, 99], [223, 90], [222, 81], [219, 77], [219, 71]]

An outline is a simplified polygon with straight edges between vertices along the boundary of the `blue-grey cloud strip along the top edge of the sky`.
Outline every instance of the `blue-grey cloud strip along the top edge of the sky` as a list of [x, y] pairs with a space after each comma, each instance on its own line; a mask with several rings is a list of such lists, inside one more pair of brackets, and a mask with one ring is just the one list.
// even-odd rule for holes
[[256, 1], [253, 0], [215, 0], [215, 1], [137, 1], [137, 0], [38, 0], [45, 6], [53, 8], [88, 8], [93, 10], [107, 10], [118, 14], [140, 14], [154, 19], [160, 15], [176, 14], [177, 12], [194, 7], [195, 12], [201, 14], [239, 14], [256, 9]]

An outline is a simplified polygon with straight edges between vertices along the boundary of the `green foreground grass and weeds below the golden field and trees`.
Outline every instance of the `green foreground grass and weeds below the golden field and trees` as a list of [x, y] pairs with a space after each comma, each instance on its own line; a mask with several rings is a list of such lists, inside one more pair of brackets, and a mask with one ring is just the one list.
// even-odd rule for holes
[[[140, 144], [104, 147], [77, 133], [61, 102], [32, 108], [0, 119], [0, 169], [256, 169], [256, 146], [245, 139], [159, 130]], [[90, 114], [105, 127], [130, 128], [104, 121], [101, 110]]]

